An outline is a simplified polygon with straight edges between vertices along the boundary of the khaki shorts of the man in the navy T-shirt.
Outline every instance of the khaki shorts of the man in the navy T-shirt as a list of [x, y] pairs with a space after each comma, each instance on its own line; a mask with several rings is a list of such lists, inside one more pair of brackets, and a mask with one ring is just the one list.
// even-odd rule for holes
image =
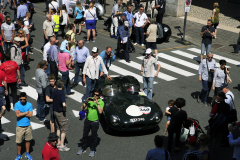
[[68, 123], [67, 123], [66, 116], [63, 115], [63, 112], [54, 111], [54, 117], [55, 117], [56, 129], [60, 130], [61, 133], [67, 133], [68, 132]]

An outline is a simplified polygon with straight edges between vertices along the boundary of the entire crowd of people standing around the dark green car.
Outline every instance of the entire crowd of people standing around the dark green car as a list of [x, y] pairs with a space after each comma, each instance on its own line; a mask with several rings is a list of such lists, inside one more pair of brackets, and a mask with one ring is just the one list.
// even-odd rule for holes
[[[162, 24], [166, 1], [156, 0], [154, 2], [155, 6], [152, 9], [158, 11], [156, 22]], [[62, 6], [59, 6], [59, 3], [54, 0], [46, 1], [46, 20], [43, 22], [42, 28], [44, 44], [41, 47], [41, 53], [43, 58], [35, 71], [36, 92], [38, 94], [36, 117], [40, 122], [50, 121], [50, 133], [42, 150], [42, 159], [60, 159], [59, 151], [70, 150], [65, 144], [68, 133], [66, 96], [74, 94], [72, 88], [76, 87], [80, 81], [82, 85], [86, 84], [86, 93], [81, 97], [84, 102], [81, 110], [87, 110], [88, 114], [84, 121], [81, 149], [77, 154], [81, 155], [86, 152], [87, 137], [91, 130], [92, 141], [89, 156], [93, 157], [95, 155], [99, 119], [104, 108], [104, 102], [101, 99], [102, 91], [96, 88], [96, 84], [100, 76], [112, 80], [108, 73], [111, 70], [111, 64], [116, 58], [119, 58], [121, 49], [124, 50], [126, 61], [131, 62], [129, 52], [135, 52], [130, 39], [131, 34], [136, 35], [135, 46], [141, 45], [144, 47], [146, 44], [145, 56], [139, 69], [141, 69], [140, 74], [143, 77], [143, 91], [148, 99], [152, 99], [154, 78], [158, 77], [161, 69], [161, 64], [156, 57], [157, 25], [153, 18], [147, 17], [144, 13], [144, 7], [139, 5], [138, 0], [134, 0], [134, 3], [136, 11], [139, 10], [136, 13], [132, 12], [131, 6], [127, 6], [127, 10], [121, 12], [119, 9], [122, 4], [121, 0], [116, 0], [116, 4], [112, 8], [110, 37], [117, 39], [118, 49], [115, 54], [111, 46], [106, 47], [106, 50], [102, 52], [99, 51], [98, 47], [93, 47], [90, 53], [84, 45], [84, 43], [89, 43], [91, 38], [92, 42], [95, 42], [96, 39], [98, 17], [94, 2], [91, 2], [88, 5], [89, 9], [86, 10], [84, 6], [87, 4], [81, 4], [80, 1], [77, 1], [74, 10], [74, 23], [70, 23], [68, 15], [70, 13], [69, 0], [63, 0]], [[9, 91], [11, 90], [17, 119], [16, 160], [22, 158], [21, 144], [23, 139], [26, 145], [25, 157], [31, 160], [33, 158], [29, 149], [33, 136], [30, 118], [33, 115], [33, 105], [27, 101], [25, 92], [20, 93], [18, 100], [17, 89], [28, 86], [25, 82], [25, 64], [29, 63], [29, 54], [33, 54], [31, 52], [31, 31], [35, 7], [30, 1], [24, 2], [23, 0], [12, 0], [12, 4], [11, 8], [14, 10], [13, 23], [9, 16], [5, 16], [4, 23], [1, 23], [4, 21], [3, 18], [0, 20], [0, 48], [2, 48], [0, 52], [1, 55], [4, 55], [3, 63], [0, 65], [0, 119], [10, 106]], [[216, 38], [219, 23], [220, 10], [218, 6], [218, 3], [214, 3], [213, 18], [208, 20], [207, 25], [203, 26], [200, 32], [202, 44], [198, 80], [202, 83], [202, 90], [197, 95], [197, 101], [198, 103], [203, 102], [205, 106], [211, 106], [208, 134], [201, 134], [199, 139], [197, 136], [187, 138], [188, 150], [182, 157], [183, 160], [209, 160], [210, 158], [217, 160], [219, 159], [221, 144], [235, 146], [233, 159], [238, 160], [240, 157], [240, 137], [233, 140], [232, 135], [234, 126], [240, 127], [240, 123], [229, 120], [232, 118], [231, 113], [235, 108], [234, 95], [229, 89], [230, 71], [226, 67], [227, 62], [225, 60], [220, 60], [220, 67], [217, 67], [216, 61], [213, 59], [214, 54], [210, 51], [212, 39]], [[85, 42], [84, 40], [76, 40], [76, 35], [82, 33], [82, 25], [86, 25], [87, 29]], [[69, 30], [65, 33], [67, 28]], [[61, 42], [60, 37], [63, 39]], [[152, 54], [153, 51], [155, 55]], [[204, 58], [205, 52], [206, 58]], [[69, 70], [73, 69], [73, 66], [75, 66], [75, 77], [71, 84]], [[155, 71], [156, 67], [157, 70]], [[82, 70], [82, 80], [79, 79], [80, 70]], [[61, 78], [58, 77], [59, 74], [61, 74]], [[209, 102], [208, 97], [211, 90], [214, 91], [214, 97]], [[3, 100], [4, 95], [6, 104]], [[183, 98], [168, 101], [168, 107], [165, 111], [167, 123], [163, 133], [164, 135], [168, 134], [167, 149], [163, 148], [163, 137], [155, 136], [156, 148], [147, 152], [146, 160], [170, 160], [173, 148], [175, 152], [181, 150], [181, 130], [189, 121], [187, 112], [182, 109], [185, 105], [186, 100]], [[45, 115], [47, 107], [49, 107], [50, 120], [46, 119]], [[0, 132], [1, 130], [0, 128]], [[173, 147], [174, 135], [175, 146]], [[198, 148], [198, 142], [201, 145], [200, 148]]]

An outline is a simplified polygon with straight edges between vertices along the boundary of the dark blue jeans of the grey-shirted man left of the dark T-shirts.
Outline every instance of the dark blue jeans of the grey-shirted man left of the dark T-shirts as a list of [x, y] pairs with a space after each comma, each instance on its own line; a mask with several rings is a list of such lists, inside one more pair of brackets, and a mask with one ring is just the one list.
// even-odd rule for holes
[[36, 117], [42, 121], [45, 118], [45, 110], [44, 110], [44, 106], [45, 106], [45, 98], [42, 94], [38, 94], [38, 99], [37, 99], [37, 115]]

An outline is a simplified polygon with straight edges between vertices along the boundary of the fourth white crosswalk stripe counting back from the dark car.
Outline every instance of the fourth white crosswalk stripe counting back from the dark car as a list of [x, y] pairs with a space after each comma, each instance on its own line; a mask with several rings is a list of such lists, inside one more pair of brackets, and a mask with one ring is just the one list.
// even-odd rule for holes
[[167, 54], [164, 54], [164, 53], [158, 53], [158, 57], [161, 59], [161, 58], [164, 58], [166, 60], [169, 60], [169, 61], [172, 61], [174, 63], [178, 63], [178, 64], [181, 64], [183, 66], [186, 66], [186, 67], [189, 67], [189, 68], [192, 68], [192, 69], [195, 69], [195, 70], [198, 70], [199, 66], [196, 65], [196, 64], [193, 64], [191, 62], [188, 62], [188, 61], [184, 61], [182, 59], [179, 59], [179, 58], [176, 58], [176, 57], [173, 57], [173, 56], [170, 56], [170, 55], [167, 55]]

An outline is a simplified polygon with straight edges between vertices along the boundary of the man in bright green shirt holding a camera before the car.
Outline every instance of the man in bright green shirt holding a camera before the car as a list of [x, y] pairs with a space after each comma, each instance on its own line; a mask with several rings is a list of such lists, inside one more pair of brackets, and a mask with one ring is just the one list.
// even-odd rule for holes
[[91, 130], [92, 132], [92, 142], [91, 142], [91, 152], [89, 157], [93, 157], [96, 153], [97, 147], [97, 131], [99, 128], [99, 118], [100, 114], [103, 112], [104, 102], [100, 98], [102, 95], [102, 91], [100, 88], [96, 88], [94, 90], [94, 96], [89, 97], [81, 106], [81, 109], [87, 109], [87, 117], [84, 121], [84, 128], [83, 128], [83, 137], [81, 139], [82, 148], [77, 152], [78, 155], [81, 155], [86, 152], [87, 149], [87, 137]]

